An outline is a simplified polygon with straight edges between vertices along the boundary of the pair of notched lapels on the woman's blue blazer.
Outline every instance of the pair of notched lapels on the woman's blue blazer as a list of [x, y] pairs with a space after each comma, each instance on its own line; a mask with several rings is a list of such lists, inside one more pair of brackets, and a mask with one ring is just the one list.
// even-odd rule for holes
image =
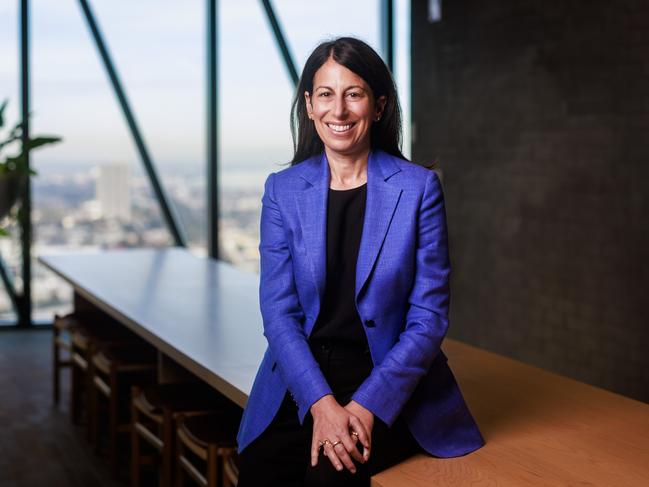
[[[300, 175], [311, 186], [297, 191], [295, 202], [313, 282], [318, 290], [317, 309], [320, 309], [327, 271], [327, 199], [331, 174], [324, 152], [300, 164], [303, 164]], [[370, 276], [397, 208], [402, 189], [391, 185], [388, 180], [400, 170], [383, 151], [370, 151], [363, 233], [356, 264], [356, 298]]]

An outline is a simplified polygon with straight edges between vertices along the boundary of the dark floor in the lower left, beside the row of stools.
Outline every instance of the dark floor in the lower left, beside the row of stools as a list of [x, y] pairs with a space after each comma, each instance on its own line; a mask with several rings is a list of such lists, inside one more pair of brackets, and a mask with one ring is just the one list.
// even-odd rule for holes
[[0, 486], [102, 487], [111, 480], [68, 414], [69, 369], [52, 406], [52, 333], [0, 331]]

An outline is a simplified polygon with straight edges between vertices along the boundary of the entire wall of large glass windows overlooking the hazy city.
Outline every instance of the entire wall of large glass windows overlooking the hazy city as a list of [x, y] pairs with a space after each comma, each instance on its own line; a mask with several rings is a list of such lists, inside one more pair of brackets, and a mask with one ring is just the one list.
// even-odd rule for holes
[[[172, 244], [140, 154], [78, 2], [32, 0], [32, 133], [60, 144], [32, 154], [36, 258], [43, 254]], [[115, 69], [192, 252], [207, 247], [205, 2], [89, 2]], [[19, 2], [0, 6], [0, 100], [10, 120], [19, 109]], [[380, 5], [273, 2], [296, 67], [321, 41], [359, 37], [380, 52]], [[395, 75], [404, 105], [409, 153], [409, 13], [395, 2]], [[342, 14], [341, 14], [342, 12]], [[219, 2], [220, 255], [251, 271], [259, 266], [263, 182], [292, 157], [293, 84], [258, 1]], [[0, 252], [20, 289], [18, 230]], [[70, 308], [70, 289], [33, 267], [34, 318]], [[0, 288], [0, 320], [13, 320]]]

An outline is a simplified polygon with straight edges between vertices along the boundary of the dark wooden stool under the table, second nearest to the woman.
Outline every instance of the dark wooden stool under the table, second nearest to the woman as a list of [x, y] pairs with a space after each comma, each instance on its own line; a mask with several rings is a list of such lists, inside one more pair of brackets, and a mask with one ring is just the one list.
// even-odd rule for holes
[[[180, 415], [176, 428], [177, 487], [185, 485], [185, 475], [203, 487], [225, 485], [224, 465], [228, 463], [228, 457], [236, 454], [239, 428], [239, 421], [232, 419], [222, 413]], [[205, 473], [194, 465], [187, 454], [189, 452], [205, 462]]]

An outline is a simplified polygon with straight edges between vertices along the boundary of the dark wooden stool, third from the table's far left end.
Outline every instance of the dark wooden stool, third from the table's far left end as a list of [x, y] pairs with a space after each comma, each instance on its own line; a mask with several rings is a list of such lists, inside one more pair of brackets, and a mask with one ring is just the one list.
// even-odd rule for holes
[[108, 409], [108, 453], [115, 479], [119, 477], [119, 435], [131, 432], [130, 389], [135, 384], [146, 385], [154, 382], [156, 369], [155, 349], [141, 344], [100, 347], [92, 355], [91, 436], [95, 451], [99, 453], [100, 399], [103, 397]]

